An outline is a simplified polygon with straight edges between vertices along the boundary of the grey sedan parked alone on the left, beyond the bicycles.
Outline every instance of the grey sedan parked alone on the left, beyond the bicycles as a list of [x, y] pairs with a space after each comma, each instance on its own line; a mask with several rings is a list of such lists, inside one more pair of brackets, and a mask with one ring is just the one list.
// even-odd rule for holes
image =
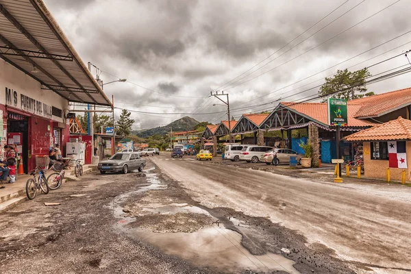
[[142, 171], [146, 165], [146, 160], [140, 158], [138, 153], [116, 153], [109, 160], [99, 162], [97, 168], [101, 174], [106, 172], [121, 172], [123, 174], [138, 169]]

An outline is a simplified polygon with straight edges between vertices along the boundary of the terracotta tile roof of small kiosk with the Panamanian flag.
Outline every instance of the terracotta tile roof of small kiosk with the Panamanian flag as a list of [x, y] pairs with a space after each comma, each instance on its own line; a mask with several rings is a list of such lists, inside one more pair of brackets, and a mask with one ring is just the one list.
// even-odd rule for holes
[[411, 120], [401, 116], [396, 120], [376, 125], [345, 137], [347, 141], [411, 140]]

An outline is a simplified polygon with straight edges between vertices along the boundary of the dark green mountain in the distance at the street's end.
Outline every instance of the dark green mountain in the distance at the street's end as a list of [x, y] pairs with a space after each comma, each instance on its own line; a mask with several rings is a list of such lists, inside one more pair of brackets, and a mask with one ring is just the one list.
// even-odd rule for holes
[[184, 116], [181, 119], [178, 119], [169, 125], [164, 125], [164, 127], [154, 127], [152, 129], [142, 129], [142, 130], [133, 130], [132, 134], [136, 134], [139, 137], [147, 138], [149, 136], [159, 134], [164, 135], [168, 134], [171, 129], [173, 132], [185, 132], [186, 130], [193, 130], [194, 127], [199, 123], [199, 121], [192, 119], [191, 117]]

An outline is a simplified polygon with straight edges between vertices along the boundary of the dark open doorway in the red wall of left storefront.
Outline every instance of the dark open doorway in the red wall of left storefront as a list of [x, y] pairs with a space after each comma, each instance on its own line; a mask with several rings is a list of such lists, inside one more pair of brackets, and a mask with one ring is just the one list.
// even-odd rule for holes
[[23, 157], [24, 173], [27, 174], [29, 160], [29, 117], [8, 112], [7, 131], [7, 144], [15, 147], [17, 152]]

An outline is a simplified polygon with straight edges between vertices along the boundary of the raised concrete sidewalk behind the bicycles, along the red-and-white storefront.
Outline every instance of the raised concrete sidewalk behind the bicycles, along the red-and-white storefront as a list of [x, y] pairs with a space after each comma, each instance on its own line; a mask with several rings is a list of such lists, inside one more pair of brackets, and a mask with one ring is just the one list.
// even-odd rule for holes
[[[89, 173], [93, 170], [97, 170], [97, 165], [88, 164], [83, 166], [84, 173]], [[53, 172], [54, 171], [48, 171], [46, 176], [50, 175]], [[25, 195], [25, 185], [27, 179], [32, 177], [32, 175], [26, 174], [17, 175], [16, 182], [14, 182], [13, 184], [0, 184], [0, 186], [4, 186], [4, 188], [0, 188], [0, 212], [8, 210], [13, 206], [18, 205], [18, 203], [23, 203], [23, 201], [27, 200], [27, 197]], [[67, 169], [66, 175], [64, 177], [74, 180], [79, 179], [75, 177], [74, 169]]]

